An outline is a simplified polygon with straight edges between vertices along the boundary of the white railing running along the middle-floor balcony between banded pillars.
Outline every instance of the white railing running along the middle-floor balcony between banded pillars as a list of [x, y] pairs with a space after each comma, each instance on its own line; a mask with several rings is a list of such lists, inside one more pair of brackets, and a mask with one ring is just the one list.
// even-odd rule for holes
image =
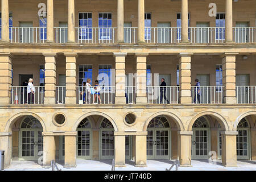
[[[135, 86], [125, 88], [126, 104], [136, 104]], [[224, 86], [191, 86], [191, 104], [224, 104]], [[89, 96], [86, 94], [90, 92]], [[147, 104], [179, 104], [179, 86], [147, 86]], [[197, 94], [196, 94], [197, 93]], [[86, 88], [77, 86], [76, 104], [115, 104], [115, 86]], [[65, 104], [65, 86], [56, 86], [56, 104]], [[236, 86], [237, 104], [255, 104], [256, 86]], [[34, 95], [26, 86], [11, 86], [13, 105], [44, 104], [44, 86], [34, 86]]]

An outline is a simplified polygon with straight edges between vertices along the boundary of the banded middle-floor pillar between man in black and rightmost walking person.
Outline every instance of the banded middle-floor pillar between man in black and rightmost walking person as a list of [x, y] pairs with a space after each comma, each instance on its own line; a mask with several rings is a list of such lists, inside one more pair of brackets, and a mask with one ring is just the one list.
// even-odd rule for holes
[[179, 55], [180, 104], [191, 104], [191, 53]]

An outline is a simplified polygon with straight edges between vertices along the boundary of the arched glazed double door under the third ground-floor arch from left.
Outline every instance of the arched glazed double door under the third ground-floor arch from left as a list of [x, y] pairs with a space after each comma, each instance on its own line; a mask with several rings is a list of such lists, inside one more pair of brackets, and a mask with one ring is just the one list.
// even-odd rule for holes
[[147, 159], [170, 159], [171, 128], [166, 117], [153, 118], [147, 131]]

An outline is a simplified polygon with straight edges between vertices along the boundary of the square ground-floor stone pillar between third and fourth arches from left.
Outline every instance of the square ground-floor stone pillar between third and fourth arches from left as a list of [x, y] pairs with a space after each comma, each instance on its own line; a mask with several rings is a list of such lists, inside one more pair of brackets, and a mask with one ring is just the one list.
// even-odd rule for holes
[[178, 153], [180, 167], [191, 166], [191, 137], [193, 131], [178, 131]]

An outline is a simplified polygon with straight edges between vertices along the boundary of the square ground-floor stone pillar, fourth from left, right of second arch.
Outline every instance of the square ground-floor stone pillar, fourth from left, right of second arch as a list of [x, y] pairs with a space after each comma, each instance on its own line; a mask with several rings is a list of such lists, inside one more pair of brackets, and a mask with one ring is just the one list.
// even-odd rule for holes
[[115, 145], [115, 167], [126, 167], [125, 166], [125, 135], [114, 136]]

